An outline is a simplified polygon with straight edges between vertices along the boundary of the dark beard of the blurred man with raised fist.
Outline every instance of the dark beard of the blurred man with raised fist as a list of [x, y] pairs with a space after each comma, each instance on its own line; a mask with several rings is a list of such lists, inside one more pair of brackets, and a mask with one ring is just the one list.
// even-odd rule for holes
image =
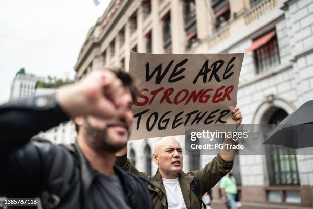
[[96, 152], [116, 153], [127, 145], [127, 141], [114, 144], [114, 140], [109, 136], [107, 128], [93, 128], [87, 120], [85, 120], [84, 129], [87, 136], [87, 144]]

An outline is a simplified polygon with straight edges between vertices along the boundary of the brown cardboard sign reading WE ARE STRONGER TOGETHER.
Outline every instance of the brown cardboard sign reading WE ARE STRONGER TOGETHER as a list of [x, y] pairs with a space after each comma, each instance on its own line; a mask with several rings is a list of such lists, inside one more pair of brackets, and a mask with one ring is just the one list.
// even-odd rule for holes
[[186, 125], [234, 124], [243, 55], [131, 52], [139, 93], [130, 139], [183, 135]]

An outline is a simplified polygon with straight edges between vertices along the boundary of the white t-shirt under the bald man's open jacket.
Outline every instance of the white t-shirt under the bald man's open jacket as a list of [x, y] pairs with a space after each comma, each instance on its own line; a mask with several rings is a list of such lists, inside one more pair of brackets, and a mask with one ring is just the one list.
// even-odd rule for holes
[[162, 181], [166, 191], [168, 209], [186, 209], [178, 178], [162, 178]]

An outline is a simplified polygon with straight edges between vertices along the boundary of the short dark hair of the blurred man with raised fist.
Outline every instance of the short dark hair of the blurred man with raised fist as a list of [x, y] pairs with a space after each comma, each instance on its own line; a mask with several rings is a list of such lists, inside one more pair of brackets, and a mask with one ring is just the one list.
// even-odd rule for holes
[[[131, 94], [131, 98], [132, 101], [135, 103], [136, 99], [137, 99], [137, 87], [135, 86], [132, 77], [130, 76], [129, 73], [123, 71], [122, 68], [105, 68], [108, 69], [109, 71], [115, 73], [116, 77], [118, 77], [124, 86], [128, 87], [130, 94]], [[79, 126], [75, 123], [75, 130], [78, 133], [79, 131]]]

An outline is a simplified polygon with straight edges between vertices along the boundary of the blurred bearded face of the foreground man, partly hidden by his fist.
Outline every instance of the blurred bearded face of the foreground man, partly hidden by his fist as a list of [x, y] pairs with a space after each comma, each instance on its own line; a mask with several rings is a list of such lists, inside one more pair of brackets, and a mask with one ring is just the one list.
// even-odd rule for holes
[[123, 108], [124, 114], [118, 118], [104, 120], [94, 116], [83, 118], [83, 129], [87, 144], [96, 151], [115, 153], [126, 146], [133, 121], [132, 98], [128, 89], [115, 100], [117, 107]]

